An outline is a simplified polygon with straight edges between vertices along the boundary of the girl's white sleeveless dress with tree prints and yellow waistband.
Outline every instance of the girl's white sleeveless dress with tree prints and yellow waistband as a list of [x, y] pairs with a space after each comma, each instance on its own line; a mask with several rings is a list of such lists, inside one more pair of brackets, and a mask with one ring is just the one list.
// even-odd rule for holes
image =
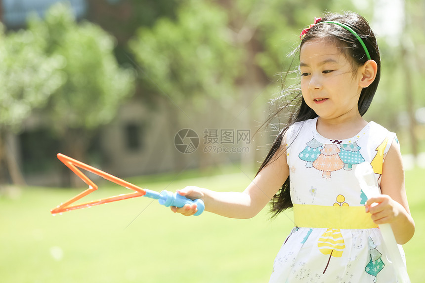
[[350, 139], [330, 140], [317, 132], [316, 121], [295, 123], [287, 132], [296, 227], [276, 256], [269, 283], [396, 283], [354, 168], [371, 163], [380, 183], [397, 137], [369, 122]]

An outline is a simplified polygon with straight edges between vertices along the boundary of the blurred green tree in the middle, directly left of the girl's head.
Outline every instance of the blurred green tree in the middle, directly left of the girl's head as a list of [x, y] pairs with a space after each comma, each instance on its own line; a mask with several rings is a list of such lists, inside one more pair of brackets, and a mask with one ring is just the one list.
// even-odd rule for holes
[[[160, 18], [140, 28], [129, 46], [142, 84], [153, 94], [166, 95], [174, 104], [191, 102], [191, 111], [200, 113], [205, 112], [196, 103], [199, 98], [225, 101], [221, 104], [231, 105], [234, 116], [244, 112], [243, 119], [255, 128], [270, 98], [260, 94], [268, 86], [276, 88], [275, 76], [291, 65], [286, 55], [301, 28], [336, 5], [339, 1], [186, 0], [175, 19]], [[352, 6], [347, 2], [339, 8]], [[174, 113], [170, 121], [178, 124], [177, 117]]]

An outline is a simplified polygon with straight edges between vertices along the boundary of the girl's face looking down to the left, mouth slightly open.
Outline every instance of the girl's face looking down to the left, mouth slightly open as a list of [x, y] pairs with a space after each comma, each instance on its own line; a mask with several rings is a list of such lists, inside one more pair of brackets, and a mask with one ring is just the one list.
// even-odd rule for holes
[[306, 104], [328, 121], [359, 118], [357, 102], [362, 87], [360, 68], [326, 40], [305, 42], [300, 50], [301, 93]]

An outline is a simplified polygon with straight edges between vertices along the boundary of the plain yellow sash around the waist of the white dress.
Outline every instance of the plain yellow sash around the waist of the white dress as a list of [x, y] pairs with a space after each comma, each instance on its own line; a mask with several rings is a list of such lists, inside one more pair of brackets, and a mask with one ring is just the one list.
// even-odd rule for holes
[[332, 229], [369, 229], [378, 227], [364, 206], [323, 206], [294, 204], [298, 227]]

